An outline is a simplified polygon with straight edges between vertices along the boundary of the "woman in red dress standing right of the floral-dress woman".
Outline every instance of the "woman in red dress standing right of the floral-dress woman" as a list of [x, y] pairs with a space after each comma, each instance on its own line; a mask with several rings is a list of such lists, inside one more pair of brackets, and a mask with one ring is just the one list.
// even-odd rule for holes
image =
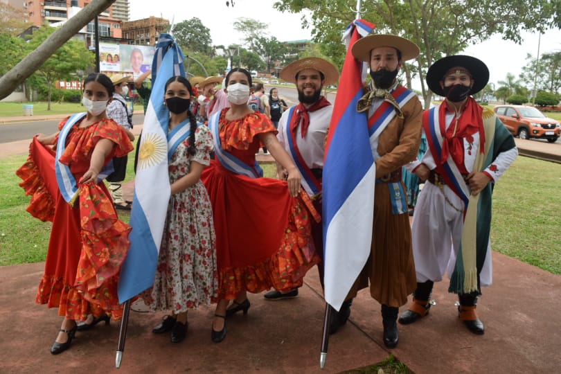
[[[202, 180], [216, 231], [220, 301], [211, 335], [215, 342], [226, 337], [226, 316], [247, 313], [247, 292], [300, 287], [306, 271], [319, 262], [309, 246], [310, 220], [319, 217], [310, 214], [315, 211], [301, 193], [301, 175], [278, 143], [271, 120], [247, 105], [250, 86], [247, 70], [232, 69], [224, 89], [231, 107], [208, 119], [215, 159]], [[261, 144], [286, 170], [285, 181], [262, 178], [255, 159]]]

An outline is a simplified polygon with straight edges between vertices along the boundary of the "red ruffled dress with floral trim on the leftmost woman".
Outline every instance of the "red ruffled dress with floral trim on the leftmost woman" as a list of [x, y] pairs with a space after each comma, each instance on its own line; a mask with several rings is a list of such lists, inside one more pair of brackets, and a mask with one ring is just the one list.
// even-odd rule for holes
[[[67, 119], [59, 123], [59, 130]], [[133, 150], [123, 127], [115, 121], [104, 118], [84, 128], [78, 127], [80, 122], [66, 137], [60, 157], [76, 181], [89, 169], [91, 153], [100, 139], [115, 143], [105, 165]], [[103, 313], [120, 319], [123, 305], [118, 302], [117, 283], [130, 246], [130, 226], [118, 219], [103, 181], [80, 184], [75, 204], [67, 203], [58, 189], [55, 156], [53, 148], [35, 138], [28, 160], [16, 172], [23, 179], [19, 186], [31, 195], [27, 211], [39, 220], [53, 222], [35, 301], [57, 307], [61, 316], [73, 320]]]

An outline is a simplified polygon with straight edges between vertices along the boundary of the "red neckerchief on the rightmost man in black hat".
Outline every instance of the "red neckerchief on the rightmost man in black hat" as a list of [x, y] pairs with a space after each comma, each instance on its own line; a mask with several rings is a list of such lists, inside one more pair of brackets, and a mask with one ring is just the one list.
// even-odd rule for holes
[[[483, 117], [481, 115], [483, 113], [483, 108], [475, 102], [474, 98], [468, 97], [465, 101], [462, 115], [458, 118], [457, 127], [454, 125], [454, 121], [456, 121], [456, 116], [454, 116], [448, 130], [445, 130], [446, 111], [455, 113], [456, 109], [454, 109], [454, 107], [449, 107], [447, 101], [444, 100], [438, 111], [440, 132], [443, 134], [444, 138], [440, 163], [444, 164], [450, 154], [460, 172], [462, 174], [467, 174], [463, 163], [463, 139], [467, 138], [467, 141], [472, 143], [473, 140], [470, 141], [472, 135], [479, 131], [479, 150], [480, 152], [485, 152], [483, 147], [485, 144], [485, 131], [483, 131]], [[454, 130], [456, 131], [455, 134]]]

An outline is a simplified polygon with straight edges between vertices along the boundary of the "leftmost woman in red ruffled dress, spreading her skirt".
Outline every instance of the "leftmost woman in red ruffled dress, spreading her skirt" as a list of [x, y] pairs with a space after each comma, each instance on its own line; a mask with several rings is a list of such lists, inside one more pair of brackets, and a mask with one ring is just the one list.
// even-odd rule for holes
[[113, 157], [125, 156], [133, 146], [123, 127], [105, 114], [114, 90], [107, 75], [92, 73], [83, 87], [87, 113], [66, 118], [51, 136], [37, 134], [28, 161], [17, 170], [19, 185], [31, 195], [27, 211], [53, 222], [35, 299], [64, 317], [53, 355], [69, 348], [76, 321], [93, 314], [109, 323], [109, 317], [123, 314], [117, 282], [130, 226], [118, 220], [103, 179], [112, 171]]

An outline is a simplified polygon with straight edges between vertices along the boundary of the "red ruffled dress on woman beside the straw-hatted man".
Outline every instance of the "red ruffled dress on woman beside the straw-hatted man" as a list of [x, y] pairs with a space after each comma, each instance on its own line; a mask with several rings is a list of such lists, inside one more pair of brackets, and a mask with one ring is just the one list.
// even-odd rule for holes
[[[228, 121], [227, 110], [219, 119], [222, 148], [253, 167], [258, 134], [276, 133], [275, 127], [258, 112]], [[286, 181], [238, 175], [217, 159], [201, 179], [213, 205], [220, 299], [235, 299], [244, 290], [300, 287], [319, 262], [310, 243], [310, 220], [319, 217], [308, 210], [308, 195], [291, 197]]]

